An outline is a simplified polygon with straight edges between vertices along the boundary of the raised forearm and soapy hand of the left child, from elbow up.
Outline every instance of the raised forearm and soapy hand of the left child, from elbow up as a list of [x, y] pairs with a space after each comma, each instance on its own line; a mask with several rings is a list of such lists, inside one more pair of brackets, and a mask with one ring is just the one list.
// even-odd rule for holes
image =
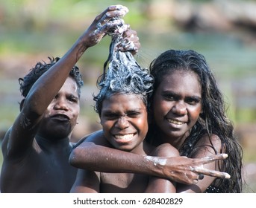
[[72, 45], [72, 48], [33, 85], [25, 100], [26, 103], [30, 103], [28, 105], [30, 111], [34, 111], [34, 114], [37, 115], [43, 114], [87, 48], [99, 43], [109, 30], [120, 24], [121, 20], [115, 22], [113, 17], [124, 16], [127, 12], [126, 7], [113, 6], [107, 7], [104, 12], [96, 16], [96, 19]]

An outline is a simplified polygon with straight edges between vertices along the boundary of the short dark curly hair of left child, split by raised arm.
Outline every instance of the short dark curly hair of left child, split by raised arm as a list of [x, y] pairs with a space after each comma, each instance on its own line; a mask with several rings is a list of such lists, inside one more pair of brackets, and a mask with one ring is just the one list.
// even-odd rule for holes
[[[37, 64], [34, 66], [34, 68], [31, 68], [30, 72], [24, 77], [19, 78], [19, 85], [20, 85], [20, 92], [23, 97], [27, 97], [28, 92], [31, 90], [31, 87], [34, 85], [34, 83], [39, 79], [46, 71], [51, 68], [60, 58], [49, 58], [49, 62], [37, 62]], [[82, 80], [79, 68], [77, 66], [74, 66], [72, 70], [69, 73], [69, 77], [72, 77], [75, 79], [76, 84], [78, 85], [78, 96], [81, 96], [81, 87], [84, 85], [84, 82]]]

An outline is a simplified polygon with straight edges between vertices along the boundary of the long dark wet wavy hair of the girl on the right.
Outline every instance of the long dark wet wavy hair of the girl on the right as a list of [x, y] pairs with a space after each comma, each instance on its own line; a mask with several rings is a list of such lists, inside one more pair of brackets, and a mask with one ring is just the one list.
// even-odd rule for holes
[[[181, 147], [181, 155], [191, 157], [195, 152], [195, 145], [204, 134], [219, 136], [222, 142], [222, 152], [228, 154], [219, 167], [228, 172], [231, 179], [217, 178], [213, 183], [222, 192], [242, 192], [242, 156], [243, 150], [234, 136], [234, 126], [225, 114], [226, 107], [222, 92], [219, 90], [216, 79], [210, 71], [205, 57], [196, 51], [166, 51], [150, 65], [150, 73], [154, 77], [154, 91], [160, 85], [163, 77], [173, 71], [193, 72], [199, 78], [202, 89], [202, 114], [196, 125], [191, 129], [190, 136]], [[154, 95], [153, 95], [154, 97]], [[214, 147], [212, 146], [214, 149]], [[216, 152], [216, 149], [214, 149]]]

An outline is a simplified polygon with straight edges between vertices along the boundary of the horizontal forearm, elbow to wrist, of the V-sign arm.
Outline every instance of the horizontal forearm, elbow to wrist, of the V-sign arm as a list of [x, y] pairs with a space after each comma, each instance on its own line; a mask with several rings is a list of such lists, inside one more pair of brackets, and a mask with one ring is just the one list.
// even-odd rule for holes
[[156, 160], [89, 142], [82, 143], [72, 151], [69, 163], [80, 169], [98, 172], [133, 172], [163, 176]]

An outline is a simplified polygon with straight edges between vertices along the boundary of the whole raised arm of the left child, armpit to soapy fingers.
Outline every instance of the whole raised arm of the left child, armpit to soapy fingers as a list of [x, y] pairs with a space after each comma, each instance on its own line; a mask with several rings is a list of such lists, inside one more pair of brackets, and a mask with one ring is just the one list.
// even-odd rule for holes
[[87, 48], [96, 45], [108, 30], [120, 24], [120, 20], [114, 20], [113, 17], [124, 16], [127, 12], [128, 9], [121, 5], [107, 7], [103, 13], [96, 16], [96, 19], [72, 45], [72, 48], [34, 83], [24, 100], [20, 114], [4, 138], [4, 155], [9, 157], [12, 155], [17, 158], [31, 148], [37, 124], [51, 100], [66, 81], [69, 71], [72, 70], [84, 51], [87, 51]]

